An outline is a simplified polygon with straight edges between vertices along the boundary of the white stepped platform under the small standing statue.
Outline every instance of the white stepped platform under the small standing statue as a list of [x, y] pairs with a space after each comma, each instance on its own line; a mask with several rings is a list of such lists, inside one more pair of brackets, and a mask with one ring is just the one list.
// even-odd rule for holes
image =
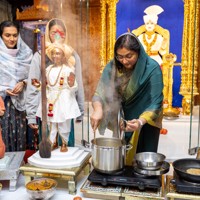
[[68, 147], [67, 152], [60, 152], [60, 148], [51, 152], [51, 158], [41, 158], [39, 151], [28, 158], [28, 163], [47, 169], [69, 169], [79, 167], [88, 158], [90, 152], [78, 147]]

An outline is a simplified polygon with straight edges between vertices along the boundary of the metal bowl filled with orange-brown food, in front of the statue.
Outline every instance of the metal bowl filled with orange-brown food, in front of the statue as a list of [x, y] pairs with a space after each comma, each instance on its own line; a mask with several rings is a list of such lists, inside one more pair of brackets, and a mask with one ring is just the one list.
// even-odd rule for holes
[[56, 191], [57, 182], [50, 178], [40, 178], [30, 181], [26, 184], [26, 191], [30, 199], [43, 199], [51, 198]]

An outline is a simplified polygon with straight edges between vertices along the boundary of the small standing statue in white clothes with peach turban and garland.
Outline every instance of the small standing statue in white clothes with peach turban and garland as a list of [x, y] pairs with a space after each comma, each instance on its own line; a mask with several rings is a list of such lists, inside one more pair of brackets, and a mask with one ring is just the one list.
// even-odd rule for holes
[[[62, 139], [60, 151], [67, 152], [71, 120], [81, 115], [75, 97], [78, 89], [75, 80], [75, 59], [67, 45], [58, 43], [52, 43], [47, 48], [46, 54], [53, 62], [46, 68], [49, 140], [52, 143], [52, 150], [58, 148], [57, 134], [59, 134]], [[32, 80], [32, 84], [40, 86], [35, 79]], [[42, 117], [41, 103], [36, 116]]]

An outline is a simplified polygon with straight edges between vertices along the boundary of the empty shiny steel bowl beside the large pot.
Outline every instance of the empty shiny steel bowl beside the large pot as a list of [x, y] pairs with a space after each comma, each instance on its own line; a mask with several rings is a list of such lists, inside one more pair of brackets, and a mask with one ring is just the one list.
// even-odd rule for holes
[[137, 167], [145, 170], [158, 170], [161, 168], [165, 155], [154, 152], [142, 152], [135, 155]]

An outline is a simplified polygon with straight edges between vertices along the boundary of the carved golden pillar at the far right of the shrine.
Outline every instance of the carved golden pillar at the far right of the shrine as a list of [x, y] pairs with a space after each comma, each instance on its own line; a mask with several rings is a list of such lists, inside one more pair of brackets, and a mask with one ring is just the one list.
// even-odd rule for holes
[[[197, 66], [199, 51], [199, 0], [184, 1], [184, 27], [182, 42], [182, 71], [180, 94], [183, 95], [182, 107], [190, 107], [193, 97], [198, 95]], [[187, 102], [190, 105], [186, 105]], [[184, 113], [188, 114], [188, 112]], [[189, 113], [190, 114], [190, 113]]]

